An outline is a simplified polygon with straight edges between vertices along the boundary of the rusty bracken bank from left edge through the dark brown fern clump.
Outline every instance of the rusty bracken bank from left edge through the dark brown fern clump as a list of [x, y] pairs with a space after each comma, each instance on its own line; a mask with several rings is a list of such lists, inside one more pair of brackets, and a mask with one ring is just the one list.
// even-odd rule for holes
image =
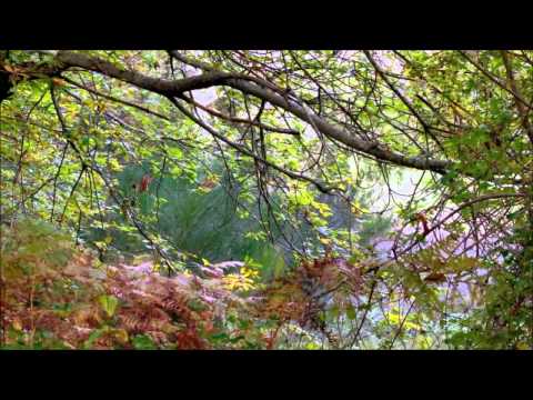
[[359, 267], [331, 256], [268, 284], [238, 261], [164, 277], [151, 261], [100, 263], [33, 219], [4, 228], [1, 246], [6, 348], [340, 348], [329, 319], [355, 319], [364, 282]]

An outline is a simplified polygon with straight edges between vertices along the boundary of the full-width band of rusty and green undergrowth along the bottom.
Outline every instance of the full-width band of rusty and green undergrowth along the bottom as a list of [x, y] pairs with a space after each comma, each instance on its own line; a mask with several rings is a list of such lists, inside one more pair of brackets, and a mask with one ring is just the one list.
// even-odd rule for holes
[[[30, 219], [3, 229], [1, 246], [6, 348], [531, 347], [531, 261], [522, 259], [517, 273], [512, 254], [491, 274], [486, 293], [450, 306], [459, 278], [473, 267], [469, 258], [442, 261], [442, 243], [381, 269], [329, 253], [302, 259], [266, 283], [257, 266], [238, 261], [204, 260], [193, 273], [172, 277], [151, 261], [102, 264], [69, 234]], [[461, 318], [467, 303], [475, 312]]]

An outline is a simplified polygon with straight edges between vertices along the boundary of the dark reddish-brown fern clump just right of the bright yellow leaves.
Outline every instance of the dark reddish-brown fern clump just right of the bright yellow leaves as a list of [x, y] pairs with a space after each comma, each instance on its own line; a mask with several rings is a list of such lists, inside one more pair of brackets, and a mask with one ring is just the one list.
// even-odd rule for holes
[[[332, 329], [339, 318], [355, 319], [355, 302], [362, 294], [364, 278], [360, 266], [329, 254], [302, 260], [290, 274], [272, 282], [265, 292], [261, 312], [275, 323], [270, 347], [298, 347], [294, 330], [308, 349], [343, 348], [346, 343]], [[314, 338], [313, 338], [314, 336]]]

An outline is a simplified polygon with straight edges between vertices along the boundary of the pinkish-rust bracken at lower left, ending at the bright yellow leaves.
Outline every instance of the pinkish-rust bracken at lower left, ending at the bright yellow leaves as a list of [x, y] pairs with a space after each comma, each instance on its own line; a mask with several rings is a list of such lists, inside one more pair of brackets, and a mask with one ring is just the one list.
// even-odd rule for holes
[[[162, 277], [153, 264], [105, 266], [48, 223], [26, 220], [2, 234], [2, 326], [7, 348], [208, 349], [244, 338], [228, 316], [245, 313], [240, 296], [253, 271], [205, 266], [205, 278]], [[231, 318], [230, 318], [231, 320]], [[258, 347], [260, 337], [218, 348]]]

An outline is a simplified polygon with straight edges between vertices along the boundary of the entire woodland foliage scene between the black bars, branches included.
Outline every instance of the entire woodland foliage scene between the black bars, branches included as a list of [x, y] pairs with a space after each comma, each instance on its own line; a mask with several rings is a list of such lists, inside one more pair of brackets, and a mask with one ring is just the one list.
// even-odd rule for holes
[[3, 348], [533, 349], [533, 52], [0, 50]]

